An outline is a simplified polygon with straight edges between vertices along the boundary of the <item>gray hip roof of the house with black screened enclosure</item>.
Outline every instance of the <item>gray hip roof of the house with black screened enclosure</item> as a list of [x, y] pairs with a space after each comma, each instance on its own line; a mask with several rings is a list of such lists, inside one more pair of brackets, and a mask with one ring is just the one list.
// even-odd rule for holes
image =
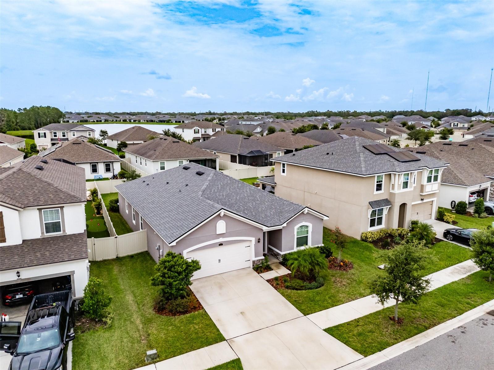
[[283, 151], [283, 149], [261, 142], [259, 139], [258, 137], [247, 138], [244, 135], [227, 134], [215, 139], [196, 142], [192, 145], [201, 149], [230, 154], [247, 154], [254, 150], [260, 150], [264, 153]]

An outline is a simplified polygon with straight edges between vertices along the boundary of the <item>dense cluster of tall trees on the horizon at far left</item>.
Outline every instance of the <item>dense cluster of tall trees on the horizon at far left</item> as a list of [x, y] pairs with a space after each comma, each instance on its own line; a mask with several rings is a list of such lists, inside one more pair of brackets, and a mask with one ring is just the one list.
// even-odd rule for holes
[[0, 132], [36, 130], [50, 123], [58, 123], [65, 114], [55, 107], [19, 108], [17, 111], [0, 109]]

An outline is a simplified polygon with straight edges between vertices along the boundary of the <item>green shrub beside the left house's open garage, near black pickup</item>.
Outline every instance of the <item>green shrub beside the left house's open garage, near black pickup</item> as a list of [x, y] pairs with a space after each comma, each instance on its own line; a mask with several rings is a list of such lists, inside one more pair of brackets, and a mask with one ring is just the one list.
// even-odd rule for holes
[[84, 298], [81, 310], [90, 319], [99, 321], [108, 315], [108, 306], [112, 297], [107, 295], [103, 288], [103, 280], [90, 277], [84, 288]]

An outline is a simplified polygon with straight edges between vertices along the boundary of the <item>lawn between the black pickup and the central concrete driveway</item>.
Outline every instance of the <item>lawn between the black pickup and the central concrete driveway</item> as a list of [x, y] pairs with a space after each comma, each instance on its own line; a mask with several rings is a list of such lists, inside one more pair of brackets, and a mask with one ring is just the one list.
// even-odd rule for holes
[[151, 349], [161, 361], [225, 340], [204, 309], [177, 317], [154, 313], [158, 289], [149, 283], [154, 266], [147, 252], [91, 261], [90, 275], [102, 279], [113, 297], [114, 317], [109, 328], [85, 333], [76, 328], [74, 370], [130, 370], [144, 366]]

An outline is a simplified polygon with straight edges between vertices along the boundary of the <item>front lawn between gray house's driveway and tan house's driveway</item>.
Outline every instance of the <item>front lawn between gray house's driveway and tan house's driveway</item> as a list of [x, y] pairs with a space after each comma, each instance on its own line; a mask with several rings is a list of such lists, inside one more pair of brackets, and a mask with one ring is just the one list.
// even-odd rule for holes
[[[330, 240], [332, 240], [331, 232], [324, 228], [323, 243], [330, 245]], [[378, 256], [383, 253], [387, 251], [378, 250], [371, 243], [350, 238], [343, 249], [342, 258], [353, 262], [352, 270], [348, 272], [329, 270], [326, 284], [319, 289], [306, 291], [280, 289], [278, 292], [304, 315], [369, 296], [371, 281], [381, 273], [377, 266], [382, 263]], [[428, 253], [436, 259], [431, 261], [423, 271], [423, 275], [470, 258], [468, 249], [449, 242], [436, 243]], [[334, 249], [333, 255], [337, 256], [337, 254], [338, 251]]]

